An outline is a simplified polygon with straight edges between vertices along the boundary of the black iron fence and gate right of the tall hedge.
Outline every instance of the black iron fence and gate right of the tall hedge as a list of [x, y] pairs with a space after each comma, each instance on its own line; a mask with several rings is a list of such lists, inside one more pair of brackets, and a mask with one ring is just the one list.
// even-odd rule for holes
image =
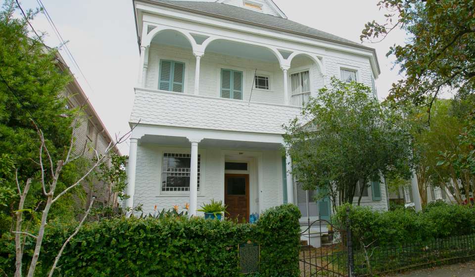
[[349, 220], [338, 230], [325, 220], [301, 233], [301, 277], [364, 277], [475, 259], [475, 234], [424, 242], [353, 245]]

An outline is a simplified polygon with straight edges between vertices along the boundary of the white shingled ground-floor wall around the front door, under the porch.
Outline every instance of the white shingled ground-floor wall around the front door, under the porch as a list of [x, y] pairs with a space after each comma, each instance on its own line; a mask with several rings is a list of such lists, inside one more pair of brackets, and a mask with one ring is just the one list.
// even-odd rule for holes
[[[221, 150], [219, 147], [200, 148], [198, 145], [198, 153], [201, 155], [198, 207], [211, 199], [224, 201], [223, 180], [225, 173], [221, 164]], [[164, 152], [190, 153], [190, 148], [171, 148], [152, 143], [139, 143], [138, 145], [134, 206], [142, 204], [144, 214], [153, 213], [155, 205], [160, 211], [171, 209], [174, 205], [178, 205], [180, 210], [183, 210], [185, 204], [190, 202], [189, 194], [170, 195], [161, 192], [161, 158]], [[261, 188], [263, 192], [260, 204], [264, 210], [283, 203], [282, 157], [278, 150], [261, 151], [261, 153], [263, 163]], [[253, 173], [251, 172], [251, 174]], [[257, 184], [252, 182], [252, 178], [250, 176], [250, 190], [257, 192]], [[253, 198], [249, 199], [251, 212], [255, 211], [252, 203]]]

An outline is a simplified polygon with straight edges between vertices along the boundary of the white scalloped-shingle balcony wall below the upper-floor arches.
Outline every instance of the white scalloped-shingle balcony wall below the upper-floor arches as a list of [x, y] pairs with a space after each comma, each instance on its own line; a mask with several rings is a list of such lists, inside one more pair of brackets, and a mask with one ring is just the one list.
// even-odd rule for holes
[[201, 129], [284, 134], [300, 108], [215, 97], [136, 90], [131, 122]]

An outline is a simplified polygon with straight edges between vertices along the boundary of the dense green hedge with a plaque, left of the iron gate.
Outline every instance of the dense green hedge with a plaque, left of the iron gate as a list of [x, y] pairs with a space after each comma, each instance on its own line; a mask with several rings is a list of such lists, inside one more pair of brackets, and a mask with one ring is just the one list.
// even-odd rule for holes
[[[238, 244], [261, 244], [259, 277], [299, 275], [298, 219], [287, 204], [267, 210], [255, 225], [202, 218], [112, 219], [86, 224], [66, 247], [55, 276], [239, 276]], [[40, 255], [46, 276], [76, 224], [50, 223]], [[14, 242], [4, 240], [0, 266], [12, 275]], [[24, 261], [32, 248], [26, 246]]]

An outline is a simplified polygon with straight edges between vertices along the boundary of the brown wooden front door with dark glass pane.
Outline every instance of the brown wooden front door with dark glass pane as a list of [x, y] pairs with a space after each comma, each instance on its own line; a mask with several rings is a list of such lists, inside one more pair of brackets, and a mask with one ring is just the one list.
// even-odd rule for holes
[[228, 217], [249, 222], [249, 175], [225, 174], [224, 203], [228, 206]]

